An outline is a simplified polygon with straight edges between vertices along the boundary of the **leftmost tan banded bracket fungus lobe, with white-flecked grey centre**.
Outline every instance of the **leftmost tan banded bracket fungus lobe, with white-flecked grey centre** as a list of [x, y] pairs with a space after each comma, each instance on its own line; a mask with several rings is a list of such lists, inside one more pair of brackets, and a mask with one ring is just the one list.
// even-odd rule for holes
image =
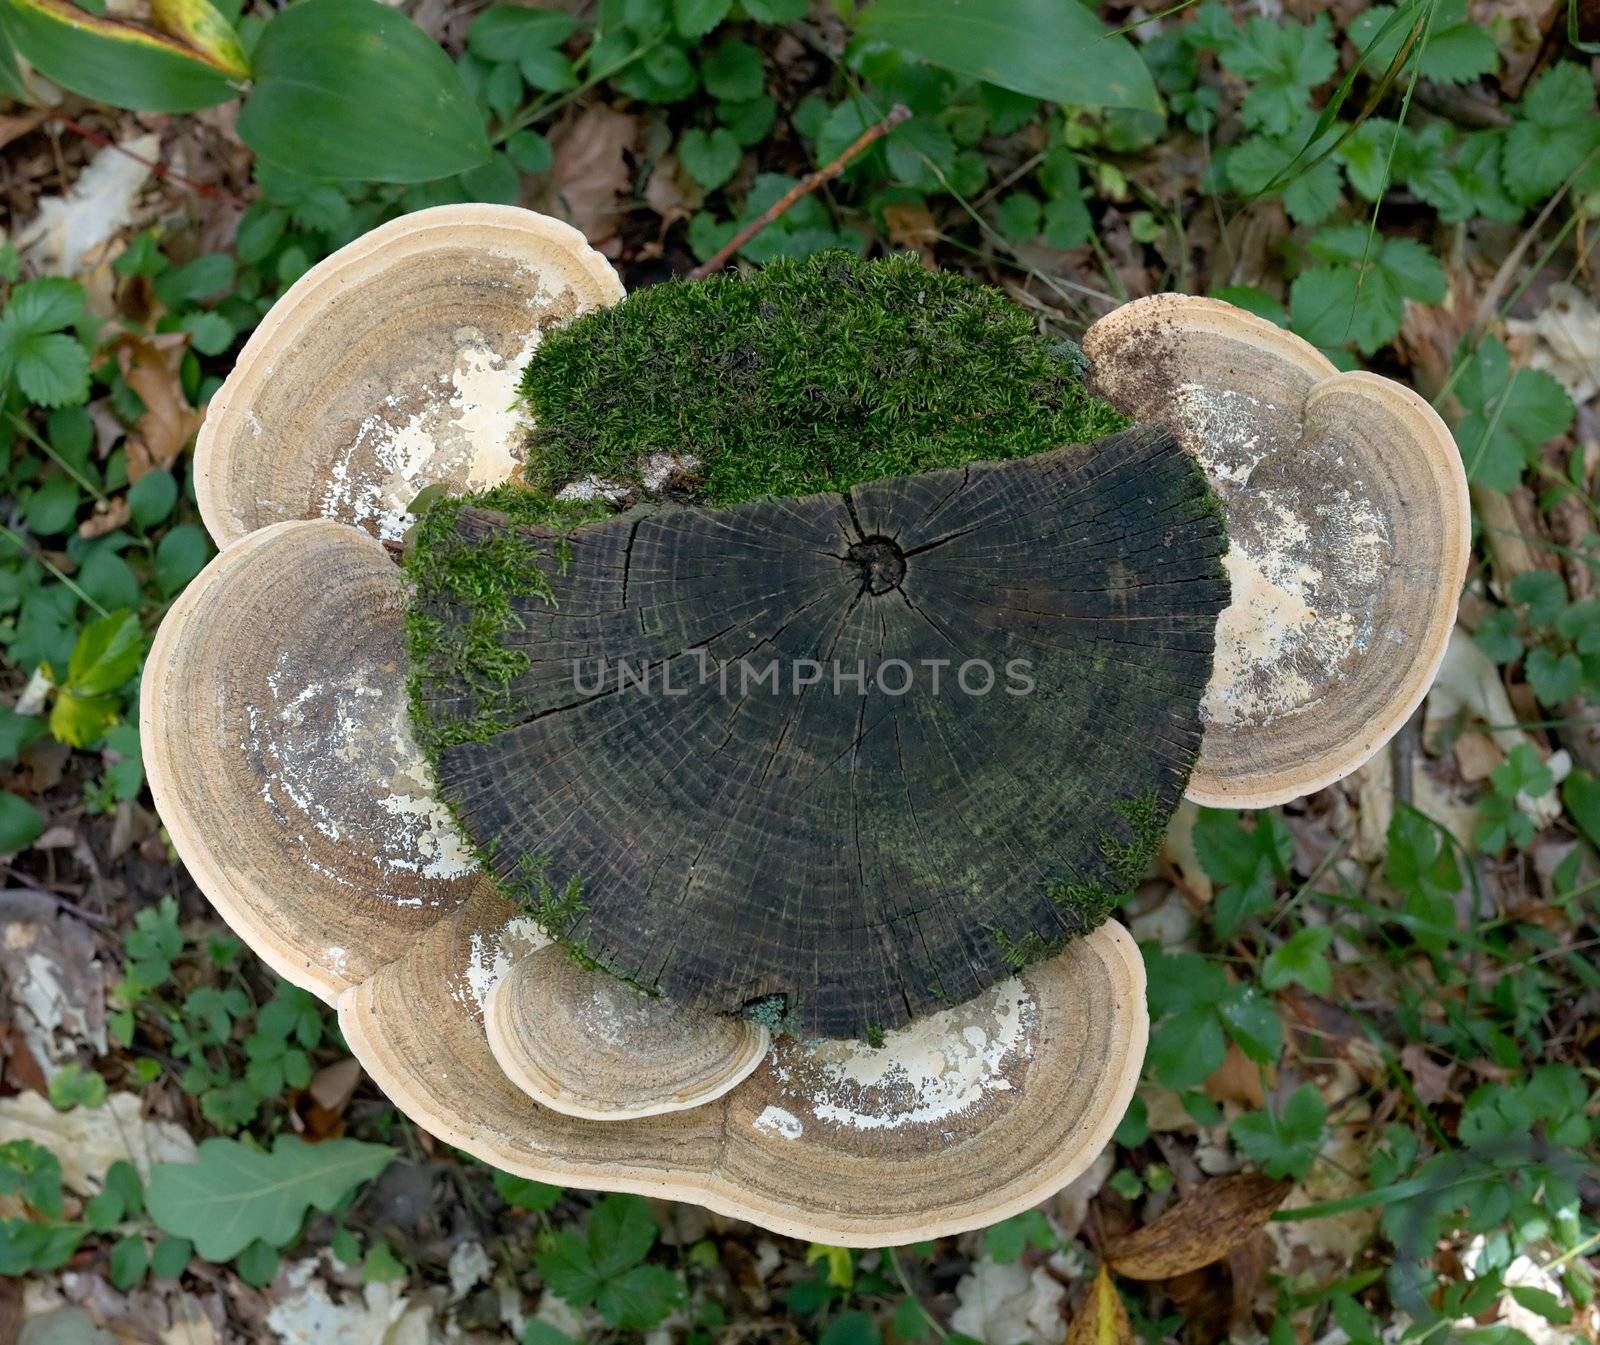
[[173, 603], [139, 729], [211, 904], [331, 1001], [483, 884], [406, 715], [402, 576], [339, 523], [235, 542]]

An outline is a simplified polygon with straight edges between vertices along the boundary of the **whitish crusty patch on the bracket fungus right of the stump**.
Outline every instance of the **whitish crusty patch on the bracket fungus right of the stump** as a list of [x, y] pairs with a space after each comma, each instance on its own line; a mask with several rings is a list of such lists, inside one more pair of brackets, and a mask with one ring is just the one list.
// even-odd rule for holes
[[1229, 526], [1234, 593], [1200, 713], [1256, 724], [1315, 705], [1371, 643], [1387, 525], [1341, 446], [1302, 438], [1282, 408], [1200, 384], [1174, 408]]

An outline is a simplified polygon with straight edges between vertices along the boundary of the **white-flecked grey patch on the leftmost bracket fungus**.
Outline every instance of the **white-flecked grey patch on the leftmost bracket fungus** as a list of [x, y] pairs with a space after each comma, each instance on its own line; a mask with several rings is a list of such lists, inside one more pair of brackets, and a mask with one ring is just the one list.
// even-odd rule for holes
[[450, 883], [474, 862], [432, 796], [405, 688], [398, 676], [333, 659], [322, 672], [307, 681], [283, 651], [264, 696], [245, 707], [240, 748], [256, 763], [261, 800], [309, 867], [360, 886], [363, 897], [421, 905], [427, 884], [416, 880]]

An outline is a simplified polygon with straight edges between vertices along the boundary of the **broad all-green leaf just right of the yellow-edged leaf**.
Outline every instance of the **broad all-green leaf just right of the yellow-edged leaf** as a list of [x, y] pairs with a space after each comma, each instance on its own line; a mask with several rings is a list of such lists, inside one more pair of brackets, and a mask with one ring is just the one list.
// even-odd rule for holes
[[427, 182], [488, 162], [461, 74], [378, 0], [298, 0], [262, 30], [238, 134], [301, 178]]

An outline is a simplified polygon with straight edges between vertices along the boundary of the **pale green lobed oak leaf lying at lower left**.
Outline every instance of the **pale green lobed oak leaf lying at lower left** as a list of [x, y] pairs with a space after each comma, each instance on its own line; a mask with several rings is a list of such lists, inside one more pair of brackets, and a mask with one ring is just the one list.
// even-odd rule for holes
[[288, 1246], [307, 1209], [333, 1209], [394, 1155], [387, 1145], [346, 1139], [312, 1145], [278, 1135], [270, 1153], [208, 1139], [195, 1163], [150, 1169], [146, 1203], [162, 1231], [189, 1238], [206, 1260], [232, 1260], [258, 1238]]

